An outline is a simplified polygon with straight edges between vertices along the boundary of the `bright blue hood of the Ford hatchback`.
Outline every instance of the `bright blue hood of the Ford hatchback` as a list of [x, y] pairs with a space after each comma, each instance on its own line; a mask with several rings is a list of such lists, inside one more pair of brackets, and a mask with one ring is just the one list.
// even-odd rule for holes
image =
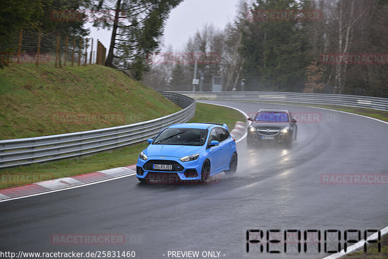
[[149, 145], [146, 148], [146, 156], [162, 157], [186, 157], [205, 150], [205, 146], [178, 146], [178, 145]]

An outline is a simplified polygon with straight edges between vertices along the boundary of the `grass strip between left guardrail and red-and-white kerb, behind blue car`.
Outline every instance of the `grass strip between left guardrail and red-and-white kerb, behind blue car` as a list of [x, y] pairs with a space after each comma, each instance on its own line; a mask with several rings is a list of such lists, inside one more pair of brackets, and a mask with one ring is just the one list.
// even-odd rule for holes
[[[244, 116], [236, 110], [197, 103], [195, 116], [191, 122], [222, 122], [232, 130], [236, 121], [244, 119]], [[146, 143], [141, 143], [97, 153], [90, 157], [4, 168], [0, 170], [0, 189], [134, 164], [140, 151], [146, 146]]]

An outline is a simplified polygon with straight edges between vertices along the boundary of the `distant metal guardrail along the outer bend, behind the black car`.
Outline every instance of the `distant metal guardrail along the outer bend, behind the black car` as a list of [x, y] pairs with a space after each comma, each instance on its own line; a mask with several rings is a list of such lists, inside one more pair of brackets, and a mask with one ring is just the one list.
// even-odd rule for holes
[[388, 99], [379, 97], [283, 93], [283, 92], [174, 92], [202, 100], [276, 101], [307, 104], [331, 104], [388, 111]]

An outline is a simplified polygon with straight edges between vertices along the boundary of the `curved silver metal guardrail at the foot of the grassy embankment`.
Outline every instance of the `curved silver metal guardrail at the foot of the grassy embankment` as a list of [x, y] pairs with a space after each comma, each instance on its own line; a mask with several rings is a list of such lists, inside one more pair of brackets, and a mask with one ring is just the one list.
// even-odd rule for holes
[[0, 168], [49, 162], [127, 146], [156, 136], [165, 127], [189, 121], [195, 101], [180, 94], [161, 93], [183, 110], [161, 118], [124, 126], [67, 134], [0, 141]]

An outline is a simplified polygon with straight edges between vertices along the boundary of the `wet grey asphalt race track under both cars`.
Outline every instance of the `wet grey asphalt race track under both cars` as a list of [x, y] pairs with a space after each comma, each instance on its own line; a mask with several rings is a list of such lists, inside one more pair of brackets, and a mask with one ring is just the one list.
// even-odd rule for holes
[[[130, 176], [2, 202], [0, 251], [115, 250], [135, 251], [137, 259], [163, 259], [167, 251], [193, 250], [221, 251], [225, 259], [323, 258], [323, 251], [271, 255], [265, 247], [260, 253], [258, 246], [246, 253], [246, 230], [363, 231], [388, 225], [387, 184], [320, 183], [321, 174], [387, 174], [387, 124], [301, 106], [209, 102], [248, 114], [275, 107], [315, 112], [321, 121], [299, 121], [298, 139], [291, 148], [251, 148], [242, 140], [238, 171], [231, 179], [222, 174], [201, 185], [143, 185]], [[50, 243], [50, 236], [58, 233], [124, 234], [126, 244]]]

